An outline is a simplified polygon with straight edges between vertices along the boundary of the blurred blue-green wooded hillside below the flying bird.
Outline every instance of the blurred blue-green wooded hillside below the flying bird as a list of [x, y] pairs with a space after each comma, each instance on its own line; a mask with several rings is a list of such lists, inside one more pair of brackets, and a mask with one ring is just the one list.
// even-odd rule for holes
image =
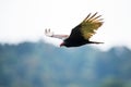
[[0, 87], [131, 87], [131, 50], [0, 45]]

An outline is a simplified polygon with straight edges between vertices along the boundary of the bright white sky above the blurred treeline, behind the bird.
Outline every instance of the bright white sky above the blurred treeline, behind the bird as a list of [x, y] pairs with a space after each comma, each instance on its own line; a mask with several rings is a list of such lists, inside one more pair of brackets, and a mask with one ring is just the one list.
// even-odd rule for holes
[[92, 40], [131, 48], [130, 9], [130, 0], [0, 0], [0, 42], [38, 40], [45, 28], [70, 34], [90, 12], [98, 12], [105, 23]]

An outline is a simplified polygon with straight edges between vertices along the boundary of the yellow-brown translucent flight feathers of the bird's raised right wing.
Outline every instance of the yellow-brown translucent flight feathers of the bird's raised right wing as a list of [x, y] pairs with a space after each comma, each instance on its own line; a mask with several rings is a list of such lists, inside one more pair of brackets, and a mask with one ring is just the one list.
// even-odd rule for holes
[[[81, 23], [81, 33], [84, 39], [88, 40], [103, 25], [103, 18], [99, 18], [102, 15], [96, 16], [97, 12], [93, 14], [91, 17], [87, 17]], [[90, 14], [91, 15], [91, 14]]]

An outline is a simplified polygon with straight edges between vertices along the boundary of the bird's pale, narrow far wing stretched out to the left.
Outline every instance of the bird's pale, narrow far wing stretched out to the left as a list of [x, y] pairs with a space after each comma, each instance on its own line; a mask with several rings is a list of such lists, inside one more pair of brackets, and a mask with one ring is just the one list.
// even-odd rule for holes
[[48, 37], [55, 37], [59, 39], [66, 39], [69, 37], [69, 35], [55, 35], [53, 32], [50, 32], [50, 29], [45, 29], [45, 35]]

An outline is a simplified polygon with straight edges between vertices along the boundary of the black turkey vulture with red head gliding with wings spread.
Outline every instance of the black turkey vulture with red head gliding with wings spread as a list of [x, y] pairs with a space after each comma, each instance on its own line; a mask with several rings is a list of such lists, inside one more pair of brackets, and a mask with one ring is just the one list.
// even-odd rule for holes
[[45, 35], [55, 38], [64, 38], [63, 42], [60, 45], [64, 47], [80, 47], [86, 44], [103, 44], [97, 41], [90, 41], [90, 38], [96, 33], [95, 30], [103, 24], [103, 18], [99, 18], [102, 15], [88, 14], [82, 23], [75, 26], [70, 36], [68, 35], [55, 35], [50, 29], [45, 29]]

